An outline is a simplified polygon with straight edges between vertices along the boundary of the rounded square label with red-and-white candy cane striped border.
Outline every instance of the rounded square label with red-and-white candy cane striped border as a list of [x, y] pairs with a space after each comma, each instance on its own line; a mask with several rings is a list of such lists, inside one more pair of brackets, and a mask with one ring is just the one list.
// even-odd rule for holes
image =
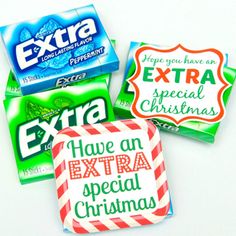
[[156, 224], [170, 210], [159, 131], [143, 119], [61, 130], [52, 145], [64, 229], [92, 233]]

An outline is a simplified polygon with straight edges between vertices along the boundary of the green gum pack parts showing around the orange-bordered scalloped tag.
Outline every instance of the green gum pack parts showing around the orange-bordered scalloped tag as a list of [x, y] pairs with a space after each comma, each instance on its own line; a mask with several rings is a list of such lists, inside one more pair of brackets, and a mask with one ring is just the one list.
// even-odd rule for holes
[[[133, 117], [131, 113], [131, 105], [134, 101], [134, 92], [127, 80], [131, 78], [136, 71], [136, 66], [133, 59], [134, 52], [143, 45], [146, 44], [132, 42], [130, 46], [124, 82], [114, 106], [115, 114], [122, 118]], [[223, 74], [225, 79], [231, 85], [225, 90], [223, 94], [223, 103], [226, 106], [232, 91], [232, 85], [235, 81], [236, 70], [228, 66], [224, 66]], [[177, 126], [173, 122], [169, 122], [160, 118], [152, 118], [151, 120], [162, 130], [208, 143], [213, 143], [215, 141], [215, 135], [220, 125], [220, 122], [205, 123], [202, 121], [186, 121]]]

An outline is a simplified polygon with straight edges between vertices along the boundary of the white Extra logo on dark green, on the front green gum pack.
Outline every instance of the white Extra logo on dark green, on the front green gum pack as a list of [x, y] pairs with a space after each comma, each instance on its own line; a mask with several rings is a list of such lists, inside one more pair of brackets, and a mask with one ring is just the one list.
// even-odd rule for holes
[[95, 124], [107, 119], [106, 102], [103, 98], [97, 98], [75, 108], [64, 109], [49, 122], [39, 117], [21, 124], [17, 128], [19, 156], [26, 160], [50, 150], [54, 136], [70, 125]]

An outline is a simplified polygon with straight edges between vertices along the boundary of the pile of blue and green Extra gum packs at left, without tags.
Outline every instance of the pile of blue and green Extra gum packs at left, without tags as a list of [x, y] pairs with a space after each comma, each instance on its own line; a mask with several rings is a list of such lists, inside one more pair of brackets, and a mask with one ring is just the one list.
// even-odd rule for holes
[[59, 130], [115, 119], [108, 86], [118, 58], [92, 5], [4, 26], [1, 38], [11, 65], [4, 106], [20, 182], [53, 178]]

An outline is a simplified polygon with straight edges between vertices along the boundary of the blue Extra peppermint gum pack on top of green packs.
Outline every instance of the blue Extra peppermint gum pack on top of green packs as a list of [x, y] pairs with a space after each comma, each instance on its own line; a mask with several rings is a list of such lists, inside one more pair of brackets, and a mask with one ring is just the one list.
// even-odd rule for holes
[[93, 5], [4, 26], [1, 37], [23, 95], [119, 68]]

